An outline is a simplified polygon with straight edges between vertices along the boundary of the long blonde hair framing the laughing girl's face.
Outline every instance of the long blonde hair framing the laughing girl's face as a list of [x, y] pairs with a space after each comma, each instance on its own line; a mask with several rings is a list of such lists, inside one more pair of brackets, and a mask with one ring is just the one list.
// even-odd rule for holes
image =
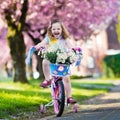
[[50, 22], [50, 25], [49, 25], [49, 27], [48, 27], [48, 29], [47, 29], [47, 35], [48, 35], [50, 38], [53, 38], [53, 35], [52, 35], [52, 32], [51, 32], [51, 28], [52, 28], [52, 25], [53, 25], [54, 23], [60, 23], [60, 24], [61, 24], [62, 37], [63, 37], [63, 39], [67, 39], [67, 38], [69, 37], [69, 32], [68, 32], [68, 30], [65, 28], [64, 24], [63, 24], [60, 20], [58, 20], [58, 19], [54, 19], [54, 20], [52, 20], [52, 21]]

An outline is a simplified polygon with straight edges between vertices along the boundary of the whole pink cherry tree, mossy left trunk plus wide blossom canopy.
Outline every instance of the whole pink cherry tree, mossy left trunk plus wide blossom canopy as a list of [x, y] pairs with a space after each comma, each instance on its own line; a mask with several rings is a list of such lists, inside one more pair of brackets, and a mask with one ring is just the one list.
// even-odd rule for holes
[[15, 68], [14, 80], [27, 81], [23, 31], [37, 44], [45, 36], [50, 20], [60, 18], [74, 39], [85, 40], [96, 29], [106, 29], [117, 18], [119, 9], [119, 0], [0, 1], [0, 13], [8, 25], [8, 42]]

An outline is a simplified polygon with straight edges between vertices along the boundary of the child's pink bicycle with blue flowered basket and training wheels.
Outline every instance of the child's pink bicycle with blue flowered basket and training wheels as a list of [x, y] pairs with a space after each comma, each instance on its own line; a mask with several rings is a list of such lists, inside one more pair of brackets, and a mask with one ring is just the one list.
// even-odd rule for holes
[[[79, 51], [79, 54], [82, 55], [81, 51]], [[80, 58], [79, 61], [77, 61], [77, 64], [80, 64], [78, 62], [80, 62]], [[60, 117], [62, 115], [65, 107], [65, 90], [62, 80], [64, 76], [70, 74], [69, 69], [70, 65], [50, 63], [52, 101], [40, 106], [40, 112], [42, 114], [45, 112], [46, 107], [54, 106], [56, 116]], [[74, 106], [73, 109], [74, 112], [77, 112], [78, 106]]]

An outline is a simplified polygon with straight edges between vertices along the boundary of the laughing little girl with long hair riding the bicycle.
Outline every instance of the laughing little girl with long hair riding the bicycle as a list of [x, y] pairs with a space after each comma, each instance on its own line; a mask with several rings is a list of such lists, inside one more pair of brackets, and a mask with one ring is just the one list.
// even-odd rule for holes
[[[38, 43], [36, 46], [33, 47], [33, 51], [39, 50], [41, 47], [47, 48], [48, 46], [54, 46], [54, 47], [60, 46], [64, 50], [70, 49], [72, 48], [72, 46], [68, 38], [69, 38], [69, 33], [65, 29], [63, 23], [59, 20], [53, 20], [51, 21], [51, 24], [47, 29], [47, 36], [42, 42]], [[51, 84], [49, 64], [50, 62], [48, 60], [46, 59], [43, 60], [42, 65], [43, 65], [43, 73], [45, 76], [45, 80], [40, 86], [44, 88], [46, 88], [48, 85]], [[67, 103], [70, 104], [76, 103], [77, 101], [72, 98], [69, 75], [64, 77], [63, 83], [66, 90]]]

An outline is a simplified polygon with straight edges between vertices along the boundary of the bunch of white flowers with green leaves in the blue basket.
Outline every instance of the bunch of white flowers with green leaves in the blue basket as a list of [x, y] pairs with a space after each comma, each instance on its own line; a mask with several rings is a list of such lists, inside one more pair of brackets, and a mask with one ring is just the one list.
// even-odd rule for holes
[[54, 64], [66, 64], [70, 65], [74, 63], [78, 56], [73, 50], [63, 50], [61, 48], [49, 47], [42, 52], [43, 58], [46, 58]]

